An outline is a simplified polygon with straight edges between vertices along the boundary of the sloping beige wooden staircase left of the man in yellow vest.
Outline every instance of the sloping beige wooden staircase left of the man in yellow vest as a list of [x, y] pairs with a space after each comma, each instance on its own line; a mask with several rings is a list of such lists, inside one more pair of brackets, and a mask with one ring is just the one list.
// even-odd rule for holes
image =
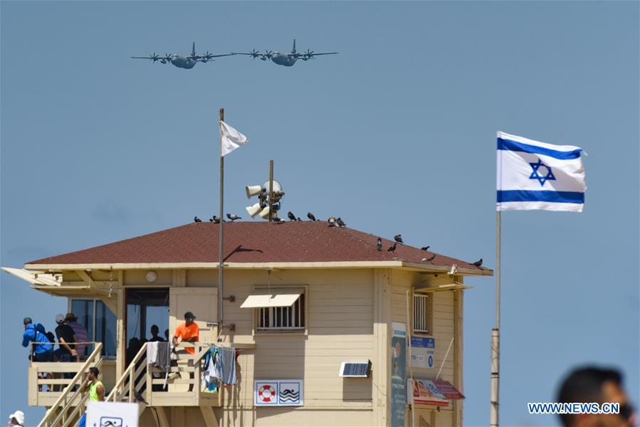
[[90, 367], [97, 367], [98, 369], [102, 367], [103, 359], [100, 355], [102, 349], [103, 344], [96, 342], [93, 352], [91, 352], [82, 367], [78, 369], [78, 372], [71, 379], [68, 386], [65, 387], [60, 397], [56, 399], [56, 402], [51, 408], [48, 408], [38, 427], [67, 427], [75, 426], [78, 423], [80, 416], [85, 412], [86, 403], [89, 399], [89, 394], [84, 392], [88, 383], [86, 372]]

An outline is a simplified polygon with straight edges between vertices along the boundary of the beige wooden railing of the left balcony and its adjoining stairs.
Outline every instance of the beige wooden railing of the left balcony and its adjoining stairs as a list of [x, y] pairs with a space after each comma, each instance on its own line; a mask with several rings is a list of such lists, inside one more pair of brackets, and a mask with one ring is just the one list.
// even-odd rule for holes
[[[38, 384], [43, 381], [43, 384], [66, 384], [63, 391], [59, 394], [58, 399], [48, 409], [42, 421], [38, 424], [38, 427], [67, 427], [71, 423], [77, 423], [78, 418], [84, 412], [85, 403], [88, 399], [88, 393], [84, 392], [87, 385], [86, 372], [90, 367], [102, 367], [102, 357], [100, 352], [102, 351], [103, 344], [101, 342], [95, 343], [95, 348], [91, 352], [88, 359], [84, 362], [33, 362], [32, 365], [38, 364], [37, 368], [41, 368], [41, 372], [67, 372], [69, 364], [80, 365], [73, 379], [37, 379], [38, 369], [35, 369], [34, 373]], [[30, 367], [31, 369], [31, 367]], [[31, 380], [31, 377], [30, 377]], [[51, 381], [56, 381], [51, 383]], [[31, 383], [31, 381], [30, 381]], [[38, 391], [38, 393], [41, 393]], [[51, 394], [48, 392], [46, 394]]]

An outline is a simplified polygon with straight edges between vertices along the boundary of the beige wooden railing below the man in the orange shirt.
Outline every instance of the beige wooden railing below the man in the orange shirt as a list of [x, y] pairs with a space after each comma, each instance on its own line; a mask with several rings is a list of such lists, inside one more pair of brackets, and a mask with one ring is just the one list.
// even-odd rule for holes
[[[200, 406], [204, 400], [208, 406], [219, 406], [220, 394], [201, 392], [201, 364], [207, 352], [209, 344], [179, 343], [177, 346], [178, 366], [172, 366], [169, 371], [167, 389], [164, 389], [165, 372], [157, 367], [149, 366], [147, 361], [148, 343], [135, 355], [125, 372], [120, 376], [105, 401], [134, 402], [136, 394], [144, 397], [149, 406]], [[186, 347], [194, 347], [195, 354], [184, 351]], [[189, 361], [193, 361], [189, 363]], [[154, 377], [157, 374], [157, 377]], [[184, 374], [187, 378], [176, 379], [174, 376]], [[193, 378], [191, 378], [193, 376]], [[159, 390], [156, 390], [158, 387]], [[192, 389], [189, 391], [189, 389]]]

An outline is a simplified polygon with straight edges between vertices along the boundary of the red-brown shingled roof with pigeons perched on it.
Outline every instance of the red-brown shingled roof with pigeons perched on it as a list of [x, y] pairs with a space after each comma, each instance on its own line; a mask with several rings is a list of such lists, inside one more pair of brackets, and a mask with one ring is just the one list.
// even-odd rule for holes
[[[83, 251], [31, 261], [36, 264], [116, 264], [116, 263], [216, 263], [219, 225], [189, 223], [157, 233], [130, 238]], [[482, 270], [462, 260], [437, 255], [406, 245], [388, 252], [393, 241], [352, 228], [329, 227], [325, 221], [236, 221], [224, 224], [225, 261], [229, 263], [317, 263], [332, 261], [402, 260], [424, 265]]]

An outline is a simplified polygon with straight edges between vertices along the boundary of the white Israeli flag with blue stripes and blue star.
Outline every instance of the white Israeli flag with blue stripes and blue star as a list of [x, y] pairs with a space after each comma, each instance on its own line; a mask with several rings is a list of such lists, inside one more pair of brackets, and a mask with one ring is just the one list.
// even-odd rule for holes
[[498, 132], [498, 211], [582, 212], [582, 149]]

